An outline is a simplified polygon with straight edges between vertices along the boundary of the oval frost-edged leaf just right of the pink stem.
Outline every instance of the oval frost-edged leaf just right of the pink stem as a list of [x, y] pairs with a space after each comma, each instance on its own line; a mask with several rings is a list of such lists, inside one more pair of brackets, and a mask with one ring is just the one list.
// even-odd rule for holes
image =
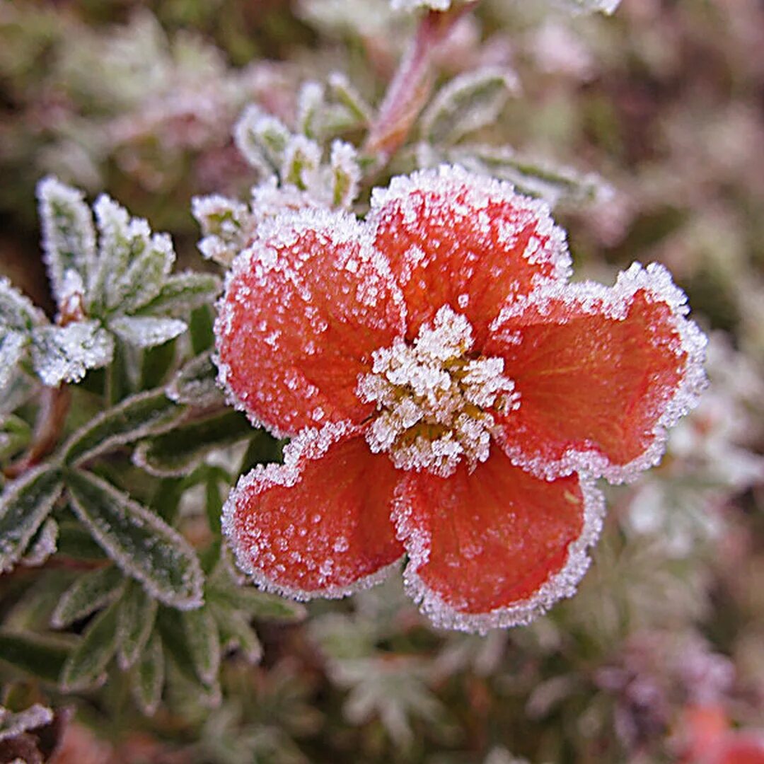
[[517, 90], [513, 73], [487, 67], [452, 79], [422, 115], [422, 137], [431, 144], [448, 145], [490, 125]]

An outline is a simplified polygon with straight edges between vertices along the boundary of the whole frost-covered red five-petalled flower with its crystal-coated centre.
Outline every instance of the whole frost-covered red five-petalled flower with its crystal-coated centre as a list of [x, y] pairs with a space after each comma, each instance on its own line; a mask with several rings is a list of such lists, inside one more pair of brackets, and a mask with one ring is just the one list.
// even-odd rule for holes
[[663, 267], [611, 288], [570, 272], [542, 202], [453, 167], [393, 180], [364, 222], [264, 226], [228, 277], [220, 379], [296, 437], [228, 498], [241, 568], [342, 597], [406, 554], [422, 610], [469, 631], [570, 596], [601, 526], [594, 478], [659, 460], [705, 345]]

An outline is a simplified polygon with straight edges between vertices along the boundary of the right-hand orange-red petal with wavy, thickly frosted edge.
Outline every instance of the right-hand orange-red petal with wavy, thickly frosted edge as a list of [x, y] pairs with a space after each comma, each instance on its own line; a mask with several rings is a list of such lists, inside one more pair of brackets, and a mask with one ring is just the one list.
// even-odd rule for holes
[[504, 359], [520, 406], [503, 416], [513, 463], [544, 478], [630, 480], [698, 401], [706, 338], [668, 271], [633, 265], [616, 286], [537, 290], [510, 306], [484, 352]]

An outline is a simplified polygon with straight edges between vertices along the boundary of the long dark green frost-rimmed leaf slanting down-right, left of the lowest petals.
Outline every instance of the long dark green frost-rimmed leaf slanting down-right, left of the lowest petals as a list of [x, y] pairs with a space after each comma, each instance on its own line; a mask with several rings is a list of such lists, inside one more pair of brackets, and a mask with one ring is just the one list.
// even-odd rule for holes
[[66, 473], [76, 515], [114, 562], [170, 607], [202, 604], [199, 560], [180, 533], [89, 472]]

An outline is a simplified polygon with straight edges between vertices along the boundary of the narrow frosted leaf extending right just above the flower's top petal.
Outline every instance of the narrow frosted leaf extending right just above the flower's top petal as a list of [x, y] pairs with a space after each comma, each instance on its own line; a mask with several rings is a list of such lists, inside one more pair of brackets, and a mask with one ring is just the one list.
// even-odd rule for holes
[[508, 180], [520, 193], [543, 199], [555, 207], [607, 199], [610, 187], [594, 174], [516, 154], [509, 147], [465, 146], [448, 152], [448, 160], [468, 170]]

